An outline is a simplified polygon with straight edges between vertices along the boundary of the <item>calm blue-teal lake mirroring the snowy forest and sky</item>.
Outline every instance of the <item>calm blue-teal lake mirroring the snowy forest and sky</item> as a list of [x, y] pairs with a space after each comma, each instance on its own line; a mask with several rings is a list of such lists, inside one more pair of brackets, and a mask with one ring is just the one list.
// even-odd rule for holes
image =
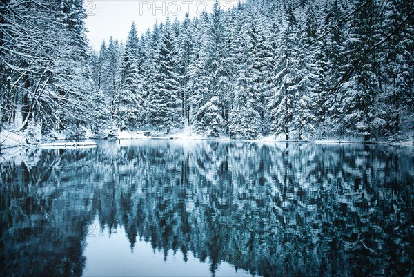
[[0, 169], [3, 276], [413, 276], [413, 148], [101, 141]]

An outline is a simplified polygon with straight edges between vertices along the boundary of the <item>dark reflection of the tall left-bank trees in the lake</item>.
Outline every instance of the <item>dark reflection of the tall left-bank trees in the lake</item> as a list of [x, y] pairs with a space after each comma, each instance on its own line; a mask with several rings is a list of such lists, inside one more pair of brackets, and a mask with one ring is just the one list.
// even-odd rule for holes
[[87, 205], [92, 187], [70, 180], [80, 174], [77, 162], [84, 160], [72, 154], [30, 151], [0, 164], [4, 276], [81, 275], [80, 238], [93, 213]]

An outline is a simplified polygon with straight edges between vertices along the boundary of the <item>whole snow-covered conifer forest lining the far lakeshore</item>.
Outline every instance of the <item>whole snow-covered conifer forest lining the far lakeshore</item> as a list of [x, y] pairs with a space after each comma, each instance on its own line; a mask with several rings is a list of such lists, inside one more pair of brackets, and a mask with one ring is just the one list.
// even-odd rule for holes
[[[86, 39], [81, 0], [0, 3], [0, 128], [82, 137], [401, 140], [414, 127], [411, 0], [248, 0]], [[411, 132], [410, 132], [411, 131]]]

